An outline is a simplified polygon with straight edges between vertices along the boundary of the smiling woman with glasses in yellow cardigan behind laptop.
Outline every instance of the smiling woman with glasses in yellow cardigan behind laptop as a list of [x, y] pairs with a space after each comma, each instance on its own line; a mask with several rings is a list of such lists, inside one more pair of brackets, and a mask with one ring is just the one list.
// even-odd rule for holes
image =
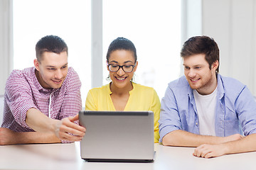
[[137, 53], [132, 41], [127, 38], [113, 40], [107, 51], [107, 70], [112, 81], [88, 92], [85, 110], [153, 111], [154, 142], [159, 142], [159, 97], [153, 88], [132, 82], [137, 67]]

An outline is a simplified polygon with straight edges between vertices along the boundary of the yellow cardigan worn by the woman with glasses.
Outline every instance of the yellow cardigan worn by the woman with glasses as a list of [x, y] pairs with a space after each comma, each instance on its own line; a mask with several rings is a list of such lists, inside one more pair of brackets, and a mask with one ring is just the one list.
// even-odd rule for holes
[[[153, 111], [154, 112], [154, 142], [159, 142], [160, 101], [156, 91], [148, 86], [132, 83], [129, 99], [124, 111]], [[110, 97], [110, 84], [90, 89], [85, 102], [87, 111], [115, 111]]]

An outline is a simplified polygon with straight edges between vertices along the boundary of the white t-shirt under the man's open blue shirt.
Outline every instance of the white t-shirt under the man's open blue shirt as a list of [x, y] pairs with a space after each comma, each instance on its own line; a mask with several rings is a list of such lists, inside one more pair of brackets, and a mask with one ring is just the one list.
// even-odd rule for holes
[[216, 107], [217, 87], [213, 93], [208, 95], [198, 94], [193, 90], [198, 111], [200, 135], [215, 136], [215, 107]]

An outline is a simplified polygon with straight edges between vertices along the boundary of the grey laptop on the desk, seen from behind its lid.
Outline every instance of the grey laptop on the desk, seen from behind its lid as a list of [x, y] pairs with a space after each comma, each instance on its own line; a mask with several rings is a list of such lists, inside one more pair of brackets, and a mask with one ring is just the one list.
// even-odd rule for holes
[[79, 121], [87, 162], [154, 162], [152, 111], [80, 111]]

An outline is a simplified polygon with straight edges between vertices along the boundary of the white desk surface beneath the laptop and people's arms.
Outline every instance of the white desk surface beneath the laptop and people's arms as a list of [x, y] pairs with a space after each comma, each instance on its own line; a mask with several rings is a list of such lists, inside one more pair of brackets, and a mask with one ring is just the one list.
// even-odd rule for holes
[[154, 163], [85, 162], [80, 143], [0, 146], [0, 169], [256, 169], [256, 152], [203, 159], [193, 157], [192, 147], [155, 144]]

